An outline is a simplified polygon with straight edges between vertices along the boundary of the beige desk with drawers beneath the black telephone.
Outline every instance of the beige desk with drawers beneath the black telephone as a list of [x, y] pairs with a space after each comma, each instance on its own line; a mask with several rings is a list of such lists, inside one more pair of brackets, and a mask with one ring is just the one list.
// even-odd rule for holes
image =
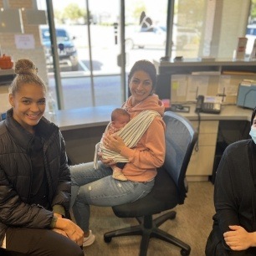
[[[251, 120], [252, 110], [236, 105], [223, 105], [220, 114], [200, 113], [199, 122], [198, 114], [195, 113], [195, 105], [191, 105], [190, 112], [182, 113], [182, 115], [187, 117], [194, 128], [199, 131], [198, 143], [187, 167], [187, 180], [207, 181], [214, 175], [218, 166], [216, 161], [217, 141], [220, 140], [218, 135], [220, 134], [223, 138], [224, 134], [228, 133], [228, 136], [232, 138], [232, 140], [227, 140], [229, 143], [241, 140], [240, 134], [247, 133], [244, 129], [248, 127]], [[223, 131], [223, 125], [227, 132]]]

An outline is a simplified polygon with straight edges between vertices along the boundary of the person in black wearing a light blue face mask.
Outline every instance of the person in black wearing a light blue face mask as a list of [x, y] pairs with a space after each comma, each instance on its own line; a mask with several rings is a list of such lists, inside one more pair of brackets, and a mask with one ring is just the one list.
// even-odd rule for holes
[[256, 255], [256, 108], [251, 117], [251, 139], [229, 145], [214, 183], [212, 232], [206, 256]]

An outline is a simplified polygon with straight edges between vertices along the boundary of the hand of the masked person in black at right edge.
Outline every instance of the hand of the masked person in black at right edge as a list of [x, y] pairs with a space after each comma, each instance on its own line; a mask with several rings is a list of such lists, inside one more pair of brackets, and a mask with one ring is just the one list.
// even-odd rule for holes
[[248, 233], [241, 226], [228, 226], [231, 231], [223, 233], [227, 245], [234, 251], [246, 250], [255, 246], [256, 233]]

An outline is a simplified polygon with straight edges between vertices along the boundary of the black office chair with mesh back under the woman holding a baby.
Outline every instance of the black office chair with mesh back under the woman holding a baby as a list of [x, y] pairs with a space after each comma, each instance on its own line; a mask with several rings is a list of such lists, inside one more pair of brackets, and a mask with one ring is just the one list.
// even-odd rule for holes
[[168, 111], [163, 120], [166, 123], [166, 159], [164, 165], [157, 170], [154, 187], [146, 197], [136, 202], [112, 207], [117, 217], [136, 218], [139, 225], [104, 234], [106, 243], [119, 236], [141, 235], [140, 256], [146, 256], [150, 238], [158, 238], [182, 248], [182, 255], [189, 255], [191, 251], [189, 245], [158, 228], [167, 219], [174, 219], [176, 212], [152, 218], [153, 214], [184, 202], [187, 194], [187, 165], [197, 141], [197, 132], [182, 115]]

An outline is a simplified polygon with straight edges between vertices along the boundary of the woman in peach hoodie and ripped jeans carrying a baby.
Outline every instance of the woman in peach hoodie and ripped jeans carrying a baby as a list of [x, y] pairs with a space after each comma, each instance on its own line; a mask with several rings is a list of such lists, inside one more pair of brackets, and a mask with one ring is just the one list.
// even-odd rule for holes
[[76, 223], [84, 231], [83, 246], [95, 241], [95, 235], [89, 228], [90, 205], [112, 207], [126, 202], [134, 202], [145, 197], [154, 186], [156, 168], [165, 158], [165, 123], [162, 120], [164, 105], [154, 94], [156, 89], [156, 68], [147, 60], [139, 60], [128, 75], [131, 96], [122, 105], [131, 119], [144, 110], [154, 110], [160, 114], [151, 121], [151, 125], [133, 148], [125, 146], [120, 136], [106, 136], [105, 146], [111, 151], [128, 158], [122, 170], [127, 181], [120, 182], [112, 177], [113, 159], [99, 162], [94, 169], [93, 162], [70, 166], [71, 207]]

